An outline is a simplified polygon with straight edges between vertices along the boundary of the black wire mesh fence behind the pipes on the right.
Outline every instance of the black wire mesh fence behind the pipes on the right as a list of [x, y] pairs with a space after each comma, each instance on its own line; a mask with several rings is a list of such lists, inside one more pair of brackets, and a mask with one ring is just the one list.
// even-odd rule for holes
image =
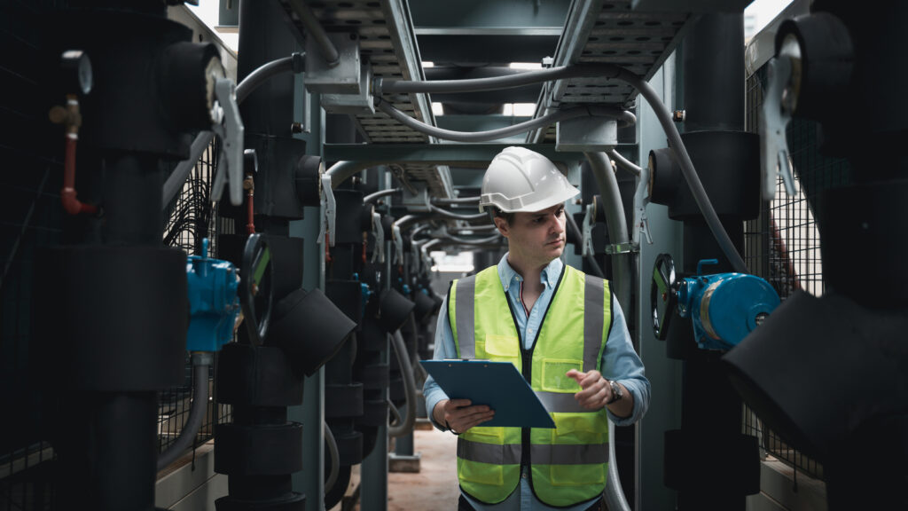
[[[756, 112], [763, 103], [764, 83], [765, 65], [747, 79], [747, 130], [753, 133], [757, 131]], [[763, 205], [759, 217], [745, 222], [747, 267], [775, 287], [783, 301], [797, 290], [814, 296], [823, 294], [821, 239], [814, 211], [825, 188], [850, 181], [846, 160], [819, 153], [816, 127], [804, 119], [793, 119], [788, 125], [788, 147], [795, 164], [795, 195], [785, 194], [780, 178], [775, 199]], [[744, 426], [746, 434], [758, 437], [766, 453], [797, 471], [823, 479], [822, 465], [766, 429], [746, 406]]]

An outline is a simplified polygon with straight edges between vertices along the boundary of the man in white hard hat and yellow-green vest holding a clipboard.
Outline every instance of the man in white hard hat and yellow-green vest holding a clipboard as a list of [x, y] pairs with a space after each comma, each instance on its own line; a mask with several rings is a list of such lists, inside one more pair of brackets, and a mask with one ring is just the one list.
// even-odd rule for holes
[[483, 427], [494, 410], [449, 399], [427, 378], [432, 423], [459, 435], [460, 510], [598, 509], [607, 418], [633, 424], [649, 405], [643, 364], [607, 281], [560, 259], [564, 202], [577, 193], [548, 158], [523, 147], [496, 155], [483, 178], [479, 208], [491, 210], [508, 253], [451, 284], [434, 358], [514, 363], [556, 429]]

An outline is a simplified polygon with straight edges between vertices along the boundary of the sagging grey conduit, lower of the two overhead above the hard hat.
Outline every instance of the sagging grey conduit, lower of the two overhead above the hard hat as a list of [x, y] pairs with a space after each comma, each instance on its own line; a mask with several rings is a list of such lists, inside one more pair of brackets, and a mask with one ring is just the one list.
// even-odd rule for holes
[[427, 125], [421, 121], [414, 119], [413, 117], [410, 117], [410, 115], [404, 114], [393, 105], [390, 105], [390, 103], [388, 103], [387, 101], [380, 101], [380, 98], [377, 97], [376, 102], [379, 110], [387, 115], [390, 115], [391, 118], [398, 121], [400, 124], [408, 126], [411, 129], [414, 129], [421, 133], [425, 133], [426, 135], [435, 136], [444, 140], [453, 140], [454, 142], [489, 142], [491, 140], [498, 140], [499, 138], [504, 138], [509, 135], [526, 133], [529, 130], [536, 129], [538, 127], [545, 127], [558, 123], [560, 121], [575, 119], [577, 117], [602, 116], [615, 118], [618, 119], [619, 123], [623, 123], [624, 125], [633, 125], [635, 122], [637, 122], [636, 116], [634, 116], [630, 112], [627, 112], [626, 110], [618, 108], [617, 106], [586, 105], [576, 106], [565, 110], [558, 110], [556, 112], [552, 112], [551, 114], [546, 114], [529, 121], [518, 123], [516, 125], [491, 129], [489, 131], [468, 133], [462, 131], [451, 131], [449, 129]]

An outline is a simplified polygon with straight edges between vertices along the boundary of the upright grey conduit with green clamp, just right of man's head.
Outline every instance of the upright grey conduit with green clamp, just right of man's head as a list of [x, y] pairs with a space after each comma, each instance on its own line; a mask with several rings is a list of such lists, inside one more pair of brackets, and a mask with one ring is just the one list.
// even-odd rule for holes
[[[618, 181], [612, 163], [608, 161], [605, 153], [591, 151], [584, 153], [593, 171], [596, 184], [599, 187], [599, 197], [606, 208], [606, 226], [608, 240], [612, 245], [627, 245], [627, 218], [624, 214], [624, 205], [621, 202], [621, 193], [618, 191]], [[628, 254], [612, 255], [612, 282], [615, 283], [615, 295], [621, 310], [630, 311], [630, 283], [631, 260]]]

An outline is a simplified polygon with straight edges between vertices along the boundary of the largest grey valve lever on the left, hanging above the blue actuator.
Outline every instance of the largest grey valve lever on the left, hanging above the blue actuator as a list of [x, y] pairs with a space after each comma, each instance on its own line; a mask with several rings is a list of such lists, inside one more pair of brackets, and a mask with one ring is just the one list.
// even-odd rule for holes
[[[230, 183], [230, 202], [242, 204], [242, 143], [245, 128], [236, 104], [236, 84], [228, 78], [218, 78], [214, 83], [212, 105], [212, 131], [221, 137], [221, 162], [215, 171], [212, 184], [212, 202], [221, 198], [224, 181]], [[223, 168], [226, 166], [226, 168]]]

